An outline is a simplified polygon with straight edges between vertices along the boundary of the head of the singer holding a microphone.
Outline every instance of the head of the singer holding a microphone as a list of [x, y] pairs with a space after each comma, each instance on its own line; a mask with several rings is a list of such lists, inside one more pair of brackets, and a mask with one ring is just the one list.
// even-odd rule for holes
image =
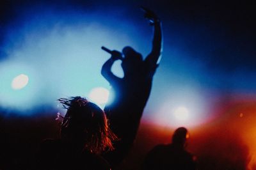
[[132, 47], [124, 47], [122, 53], [124, 54], [124, 59], [121, 65], [124, 73], [136, 73], [140, 69], [143, 61], [141, 54], [132, 49]]

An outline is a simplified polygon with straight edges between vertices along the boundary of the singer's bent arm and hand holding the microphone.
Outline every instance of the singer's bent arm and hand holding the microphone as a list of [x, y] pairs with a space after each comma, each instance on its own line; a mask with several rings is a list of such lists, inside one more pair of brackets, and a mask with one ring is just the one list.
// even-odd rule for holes
[[116, 51], [116, 50], [113, 50], [111, 51], [112, 55], [111, 55], [111, 58], [109, 58], [105, 63], [104, 65], [102, 66], [101, 68], [101, 74], [102, 76], [111, 84], [115, 81], [117, 81], [118, 79], [120, 79], [119, 77], [116, 77], [112, 72], [111, 72], [111, 67], [113, 65], [113, 63], [118, 60], [118, 59], [122, 59], [121, 57], [121, 53]]

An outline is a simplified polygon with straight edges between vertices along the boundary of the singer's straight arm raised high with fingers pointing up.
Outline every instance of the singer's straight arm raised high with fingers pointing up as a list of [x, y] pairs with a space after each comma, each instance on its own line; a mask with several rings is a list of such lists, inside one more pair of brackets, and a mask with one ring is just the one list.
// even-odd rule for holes
[[161, 21], [154, 12], [147, 8], [142, 8], [142, 10], [145, 12], [145, 18], [147, 18], [150, 21], [150, 25], [154, 27], [152, 50], [145, 60], [148, 61], [150, 65], [155, 66], [160, 62], [162, 52], [163, 38]]

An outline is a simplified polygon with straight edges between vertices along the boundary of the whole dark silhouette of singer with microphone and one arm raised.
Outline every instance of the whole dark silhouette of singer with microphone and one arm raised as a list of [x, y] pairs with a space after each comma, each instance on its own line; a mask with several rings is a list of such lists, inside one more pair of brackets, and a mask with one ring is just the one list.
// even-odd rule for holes
[[[111, 86], [111, 95], [115, 97], [106, 105], [104, 111], [110, 121], [111, 129], [120, 138], [120, 141], [115, 143], [115, 148], [118, 150], [113, 151], [111, 157], [108, 155], [109, 162], [114, 164], [120, 162], [131, 149], [143, 109], [150, 95], [152, 79], [161, 58], [161, 22], [154, 12], [146, 8], [142, 10], [145, 12], [145, 18], [154, 27], [152, 50], [145, 60], [132, 47], [124, 47], [122, 52], [102, 47], [111, 54], [111, 58], [104, 63], [101, 73]], [[111, 66], [118, 59], [122, 60], [121, 66], [124, 70], [122, 78], [111, 72]]]

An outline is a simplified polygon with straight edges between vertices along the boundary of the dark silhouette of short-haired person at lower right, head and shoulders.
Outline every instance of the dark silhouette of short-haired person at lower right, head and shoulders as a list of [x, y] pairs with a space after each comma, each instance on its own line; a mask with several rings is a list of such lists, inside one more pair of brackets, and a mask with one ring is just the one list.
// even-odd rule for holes
[[148, 152], [143, 162], [143, 169], [195, 170], [195, 157], [185, 150], [188, 137], [186, 128], [177, 128], [171, 144], [159, 144]]

